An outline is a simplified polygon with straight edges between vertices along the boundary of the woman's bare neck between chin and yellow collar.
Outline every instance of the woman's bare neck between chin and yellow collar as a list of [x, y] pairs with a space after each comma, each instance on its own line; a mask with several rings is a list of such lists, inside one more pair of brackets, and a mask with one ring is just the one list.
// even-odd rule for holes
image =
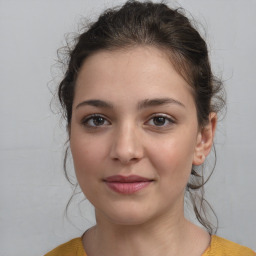
[[[97, 213], [96, 219], [97, 225], [84, 236], [88, 256], [193, 255], [193, 248], [195, 255], [201, 255], [210, 239], [183, 215], [162, 216], [139, 225], [115, 224]], [[202, 248], [196, 241], [204, 242]]]

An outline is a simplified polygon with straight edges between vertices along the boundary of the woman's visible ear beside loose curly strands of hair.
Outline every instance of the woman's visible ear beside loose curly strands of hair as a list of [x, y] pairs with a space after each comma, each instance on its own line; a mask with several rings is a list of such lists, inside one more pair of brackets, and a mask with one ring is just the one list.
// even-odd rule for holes
[[201, 165], [204, 162], [206, 156], [211, 152], [216, 125], [217, 114], [211, 112], [209, 114], [208, 124], [202, 127], [201, 130], [198, 132], [193, 165]]

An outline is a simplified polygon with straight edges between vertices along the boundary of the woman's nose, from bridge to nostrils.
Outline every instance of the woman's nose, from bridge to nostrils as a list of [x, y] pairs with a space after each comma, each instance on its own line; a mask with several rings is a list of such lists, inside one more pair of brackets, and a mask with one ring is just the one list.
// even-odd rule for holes
[[124, 124], [117, 128], [113, 135], [110, 156], [122, 164], [136, 162], [143, 157], [143, 145], [139, 138], [138, 128]]

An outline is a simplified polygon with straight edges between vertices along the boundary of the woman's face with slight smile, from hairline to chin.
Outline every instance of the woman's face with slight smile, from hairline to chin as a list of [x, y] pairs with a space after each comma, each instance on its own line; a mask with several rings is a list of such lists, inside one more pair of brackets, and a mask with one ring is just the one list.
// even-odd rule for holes
[[152, 47], [101, 51], [79, 72], [70, 126], [77, 179], [97, 218], [183, 214], [203, 135], [190, 86]]

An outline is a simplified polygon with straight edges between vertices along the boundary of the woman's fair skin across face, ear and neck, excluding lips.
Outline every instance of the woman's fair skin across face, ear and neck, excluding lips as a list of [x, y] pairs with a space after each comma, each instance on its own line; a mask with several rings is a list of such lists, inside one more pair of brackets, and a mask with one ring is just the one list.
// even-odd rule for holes
[[[79, 185], [95, 207], [97, 225], [83, 237], [89, 256], [203, 253], [210, 236], [185, 219], [184, 191], [192, 164], [210, 152], [215, 126], [211, 113], [199, 127], [191, 87], [163, 51], [100, 51], [85, 60], [70, 146]], [[124, 195], [104, 182], [112, 175], [152, 182]]]

